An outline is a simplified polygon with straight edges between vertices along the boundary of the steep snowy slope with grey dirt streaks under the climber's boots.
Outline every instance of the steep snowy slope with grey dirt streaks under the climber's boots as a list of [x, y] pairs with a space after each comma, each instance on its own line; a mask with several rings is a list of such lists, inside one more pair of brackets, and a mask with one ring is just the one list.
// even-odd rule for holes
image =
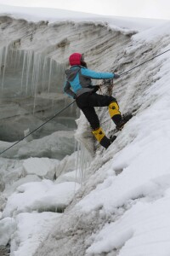
[[[170, 49], [169, 29], [167, 23], [133, 36], [117, 57], [119, 70]], [[116, 82], [122, 112], [135, 115], [110, 148], [98, 149], [77, 199], [35, 255], [170, 254], [169, 63], [170, 51]], [[111, 134], [112, 124], [103, 127]]]

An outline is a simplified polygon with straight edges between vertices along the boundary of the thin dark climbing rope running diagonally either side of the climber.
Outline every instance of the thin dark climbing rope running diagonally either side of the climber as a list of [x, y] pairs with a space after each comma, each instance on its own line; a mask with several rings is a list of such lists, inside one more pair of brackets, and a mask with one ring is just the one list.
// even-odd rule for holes
[[[154, 60], [156, 57], [167, 53], [167, 51], [169, 51], [169, 50], [170, 50], [170, 49], [167, 49], [166, 51], [162, 52], [161, 54], [156, 55], [156, 56], [150, 58], [149, 60], [144, 61], [144, 62], [140, 63], [139, 65], [128, 69], [127, 71], [121, 73], [121, 74], [120, 74], [120, 77], [121, 77], [122, 75], [124, 75], [125, 73], [128, 73], [128, 72], [132, 71], [134, 68], [140, 67], [140, 66], [144, 65], [144, 63], [147, 63], [148, 61]], [[105, 85], [105, 84], [108, 84], [108, 83], [109, 83], [109, 86], [113, 86], [113, 79], [107, 79], [107, 80], [105, 80], [102, 84], [99, 84], [99, 85], [102, 86], [102, 85]], [[100, 89], [100, 90], [101, 90], [101, 89]], [[76, 101], [74, 101], [74, 102], [76, 102]], [[0, 155], [3, 154], [3, 153], [5, 153], [6, 151], [8, 151], [9, 148], [13, 148], [16, 144], [20, 143], [20, 142], [23, 141], [26, 137], [30, 136], [32, 133], [34, 133], [35, 131], [37, 131], [38, 129], [40, 129], [43, 125], [46, 125], [51, 119], [54, 119], [56, 116], [58, 116], [59, 113], [62, 113], [63, 111], [65, 111], [66, 108], [71, 107], [71, 105], [72, 105], [74, 102], [71, 102], [71, 104], [67, 105], [65, 108], [62, 108], [58, 113], [55, 113], [52, 118], [48, 119], [48, 120], [47, 120], [46, 122], [44, 122], [42, 125], [38, 126], [35, 130], [33, 130], [33, 131], [31, 131], [30, 133], [28, 133], [25, 137], [22, 137], [18, 142], [12, 144], [10, 147], [8, 147], [8, 148], [6, 148], [5, 150], [3, 150], [2, 152], [0, 152]], [[106, 120], [105, 122], [107, 122], [107, 121], [108, 121], [108, 120]], [[104, 123], [105, 123], [105, 122], [104, 122]], [[102, 123], [102, 124], [104, 124], [104, 123]]]

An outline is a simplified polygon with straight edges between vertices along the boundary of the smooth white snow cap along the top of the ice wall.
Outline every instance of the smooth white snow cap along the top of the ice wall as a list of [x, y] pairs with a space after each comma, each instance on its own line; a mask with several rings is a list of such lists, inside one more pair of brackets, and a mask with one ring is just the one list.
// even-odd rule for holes
[[111, 29], [114, 30], [117, 27], [117, 29], [119, 28], [124, 32], [129, 32], [129, 30], [133, 30], [133, 32], [140, 32], [150, 27], [160, 26], [161, 24], [166, 22], [166, 20], [157, 19], [95, 15], [65, 9], [28, 8], [20, 6], [8, 6], [2, 4], [0, 4], [0, 15], [7, 15], [15, 19], [24, 19], [33, 22], [48, 20], [48, 23], [54, 23], [57, 21], [91, 21], [109, 26]]

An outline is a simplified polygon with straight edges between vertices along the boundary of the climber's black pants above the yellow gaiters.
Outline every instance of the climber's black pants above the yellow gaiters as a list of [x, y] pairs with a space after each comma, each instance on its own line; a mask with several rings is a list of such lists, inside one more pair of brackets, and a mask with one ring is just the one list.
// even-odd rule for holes
[[116, 98], [92, 92], [77, 97], [77, 106], [82, 110], [93, 130], [99, 128], [99, 118], [94, 107], [107, 107], [111, 102], [116, 102]]

